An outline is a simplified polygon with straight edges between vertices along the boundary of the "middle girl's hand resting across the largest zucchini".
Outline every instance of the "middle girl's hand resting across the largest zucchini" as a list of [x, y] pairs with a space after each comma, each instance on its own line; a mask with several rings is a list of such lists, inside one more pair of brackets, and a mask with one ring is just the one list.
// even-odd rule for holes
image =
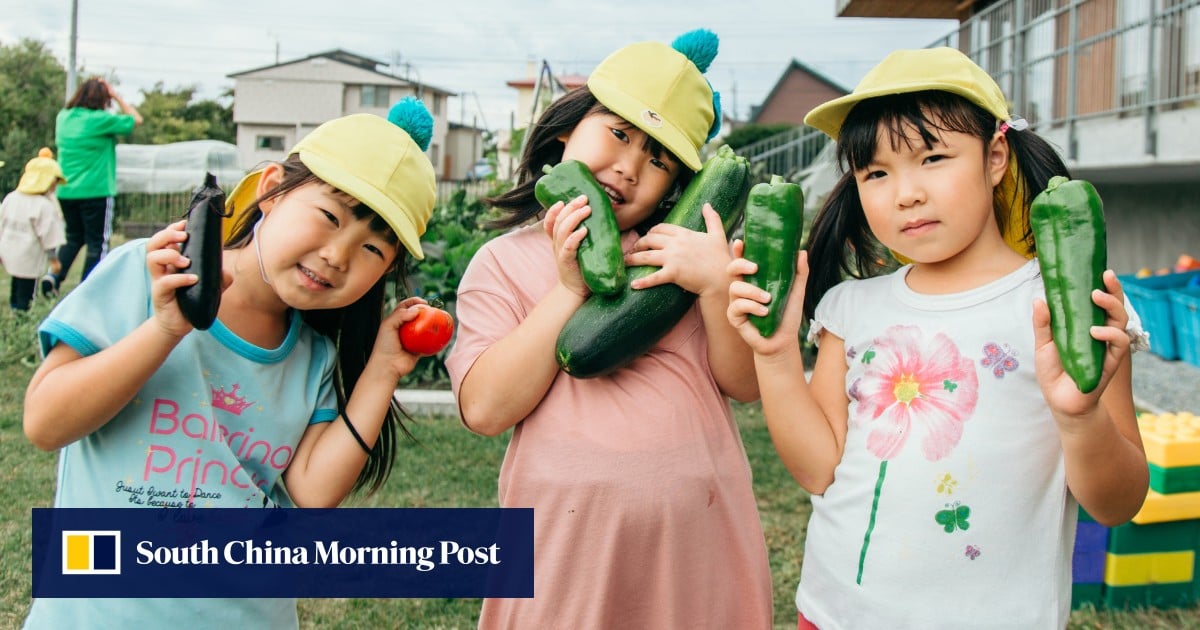
[[721, 216], [704, 204], [706, 232], [694, 232], [680, 226], [659, 223], [634, 244], [625, 254], [626, 265], [660, 266], [658, 271], [630, 283], [635, 289], [647, 289], [673, 282], [684, 290], [704, 295], [725, 293], [730, 276], [730, 247], [725, 241]]

